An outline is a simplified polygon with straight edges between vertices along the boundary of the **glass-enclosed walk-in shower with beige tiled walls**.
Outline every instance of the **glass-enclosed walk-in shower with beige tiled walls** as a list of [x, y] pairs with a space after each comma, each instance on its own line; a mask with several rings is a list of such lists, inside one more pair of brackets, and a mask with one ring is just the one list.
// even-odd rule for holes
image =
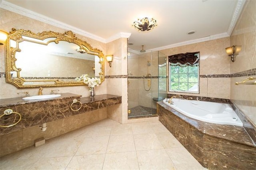
[[[158, 51], [142, 54], [130, 53], [128, 57], [129, 119], [156, 115], [156, 102], [163, 97], [158, 88], [159, 57]], [[166, 60], [161, 59], [162, 61]], [[161, 68], [163, 70], [163, 67]], [[164, 75], [166, 77], [166, 73]], [[163, 86], [162, 82], [163, 79], [161, 79], [161, 86]], [[163, 94], [166, 95], [167, 92]]]

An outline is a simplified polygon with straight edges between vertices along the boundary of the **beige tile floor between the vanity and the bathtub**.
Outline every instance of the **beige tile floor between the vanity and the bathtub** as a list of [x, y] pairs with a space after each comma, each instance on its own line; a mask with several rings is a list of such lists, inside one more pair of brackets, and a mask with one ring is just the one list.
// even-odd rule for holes
[[160, 122], [110, 119], [4, 156], [0, 169], [206, 170]]

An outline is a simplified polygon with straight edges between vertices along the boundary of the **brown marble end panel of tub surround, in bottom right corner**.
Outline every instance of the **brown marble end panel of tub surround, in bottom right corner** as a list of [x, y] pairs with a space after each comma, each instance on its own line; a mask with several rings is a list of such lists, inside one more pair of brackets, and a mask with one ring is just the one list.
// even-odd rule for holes
[[208, 169], [255, 170], [256, 147], [205, 134], [203, 158]]

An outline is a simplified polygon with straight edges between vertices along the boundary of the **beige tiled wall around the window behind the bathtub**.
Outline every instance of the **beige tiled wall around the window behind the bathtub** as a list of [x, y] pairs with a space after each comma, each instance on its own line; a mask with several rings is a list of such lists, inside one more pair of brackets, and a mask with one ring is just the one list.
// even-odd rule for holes
[[180, 94], [230, 99], [230, 57], [225, 51], [229, 46], [227, 37], [161, 50], [167, 56], [200, 51], [200, 93]]

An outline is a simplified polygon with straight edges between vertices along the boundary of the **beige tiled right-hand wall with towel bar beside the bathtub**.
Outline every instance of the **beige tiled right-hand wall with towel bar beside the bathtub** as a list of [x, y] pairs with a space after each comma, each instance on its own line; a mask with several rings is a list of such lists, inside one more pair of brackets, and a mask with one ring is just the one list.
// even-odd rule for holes
[[[231, 35], [231, 45], [242, 50], [231, 62], [231, 101], [256, 127], [256, 85], [235, 85], [247, 77], [256, 77], [256, 1], [247, 0]], [[255, 80], [254, 80], [255, 81]]]

